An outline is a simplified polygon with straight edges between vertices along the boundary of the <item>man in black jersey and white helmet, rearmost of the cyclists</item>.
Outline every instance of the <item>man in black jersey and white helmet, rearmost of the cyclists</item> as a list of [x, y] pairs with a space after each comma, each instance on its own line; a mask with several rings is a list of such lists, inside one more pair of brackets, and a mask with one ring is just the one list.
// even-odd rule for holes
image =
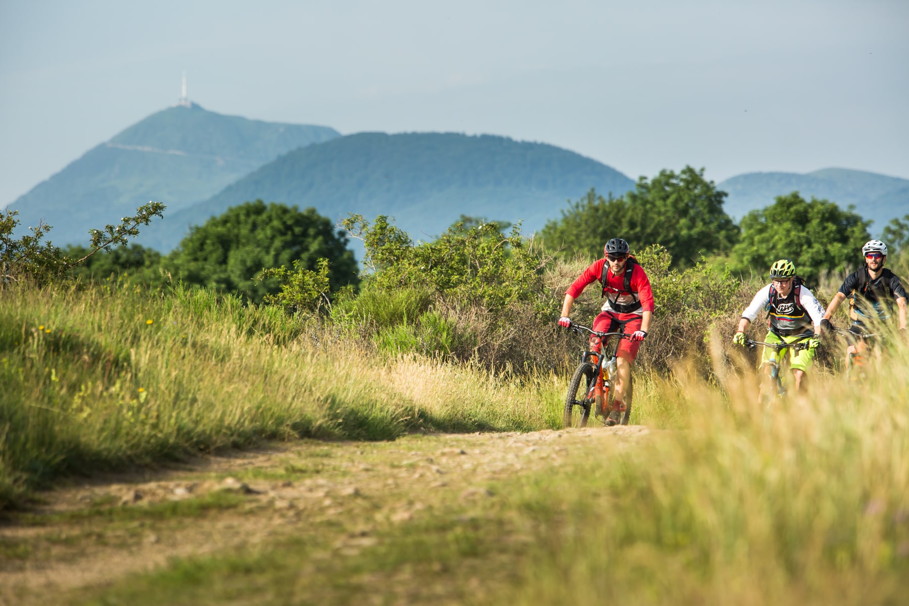
[[[830, 318], [840, 304], [849, 299], [849, 318], [853, 321], [849, 332], [856, 335], [867, 332], [864, 325], [869, 320], [888, 322], [893, 316], [894, 303], [899, 310], [899, 328], [906, 329], [906, 292], [899, 276], [884, 268], [887, 261], [887, 245], [880, 240], [870, 240], [862, 247], [864, 267], [846, 276], [833, 301], [827, 305], [821, 326], [833, 329]], [[850, 339], [847, 356], [864, 353], [865, 343], [861, 339]]]

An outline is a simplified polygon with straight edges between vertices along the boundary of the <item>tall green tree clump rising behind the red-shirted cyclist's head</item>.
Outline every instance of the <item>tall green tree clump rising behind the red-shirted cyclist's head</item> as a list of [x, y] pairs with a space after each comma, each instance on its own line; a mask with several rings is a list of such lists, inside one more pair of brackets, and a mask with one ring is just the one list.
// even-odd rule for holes
[[723, 210], [725, 196], [704, 179], [703, 168], [664, 170], [649, 181], [641, 177], [622, 198], [604, 199], [591, 190], [559, 221], [546, 224], [542, 235], [569, 254], [602, 254], [604, 243], [616, 237], [633, 251], [660, 244], [673, 267], [693, 267], [704, 254], [729, 253], [738, 239], [738, 227]]

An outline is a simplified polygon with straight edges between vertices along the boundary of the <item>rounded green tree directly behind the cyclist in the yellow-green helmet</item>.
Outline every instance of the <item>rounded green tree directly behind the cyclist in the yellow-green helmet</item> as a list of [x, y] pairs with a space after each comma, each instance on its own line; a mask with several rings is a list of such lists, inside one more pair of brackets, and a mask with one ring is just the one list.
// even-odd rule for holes
[[793, 192], [742, 219], [742, 238], [733, 249], [736, 271], [764, 274], [774, 261], [792, 259], [798, 273], [813, 281], [825, 270], [854, 264], [870, 236], [868, 225], [854, 212], [833, 202], [804, 198]]

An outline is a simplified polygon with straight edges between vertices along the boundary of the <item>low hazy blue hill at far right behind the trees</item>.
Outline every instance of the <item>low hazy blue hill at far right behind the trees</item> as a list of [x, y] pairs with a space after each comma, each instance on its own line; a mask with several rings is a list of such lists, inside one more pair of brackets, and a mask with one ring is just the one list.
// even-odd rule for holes
[[814, 196], [843, 207], [854, 204], [858, 214], [874, 220], [872, 233], [880, 233], [894, 217], [909, 214], [909, 180], [845, 168], [808, 174], [739, 174], [718, 187], [729, 193], [725, 210], [736, 221], [748, 211], [772, 204], [776, 196], [794, 191], [806, 200]]

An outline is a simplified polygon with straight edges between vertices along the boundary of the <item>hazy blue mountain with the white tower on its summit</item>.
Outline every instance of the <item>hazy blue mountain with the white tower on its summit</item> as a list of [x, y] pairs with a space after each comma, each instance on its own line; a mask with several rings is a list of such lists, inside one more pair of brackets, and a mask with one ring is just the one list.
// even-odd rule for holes
[[337, 136], [325, 126], [171, 107], [89, 150], [9, 208], [19, 211], [20, 227], [44, 220], [54, 243], [85, 244], [90, 228], [115, 224], [149, 200], [167, 204], [169, 218], [280, 154]]

